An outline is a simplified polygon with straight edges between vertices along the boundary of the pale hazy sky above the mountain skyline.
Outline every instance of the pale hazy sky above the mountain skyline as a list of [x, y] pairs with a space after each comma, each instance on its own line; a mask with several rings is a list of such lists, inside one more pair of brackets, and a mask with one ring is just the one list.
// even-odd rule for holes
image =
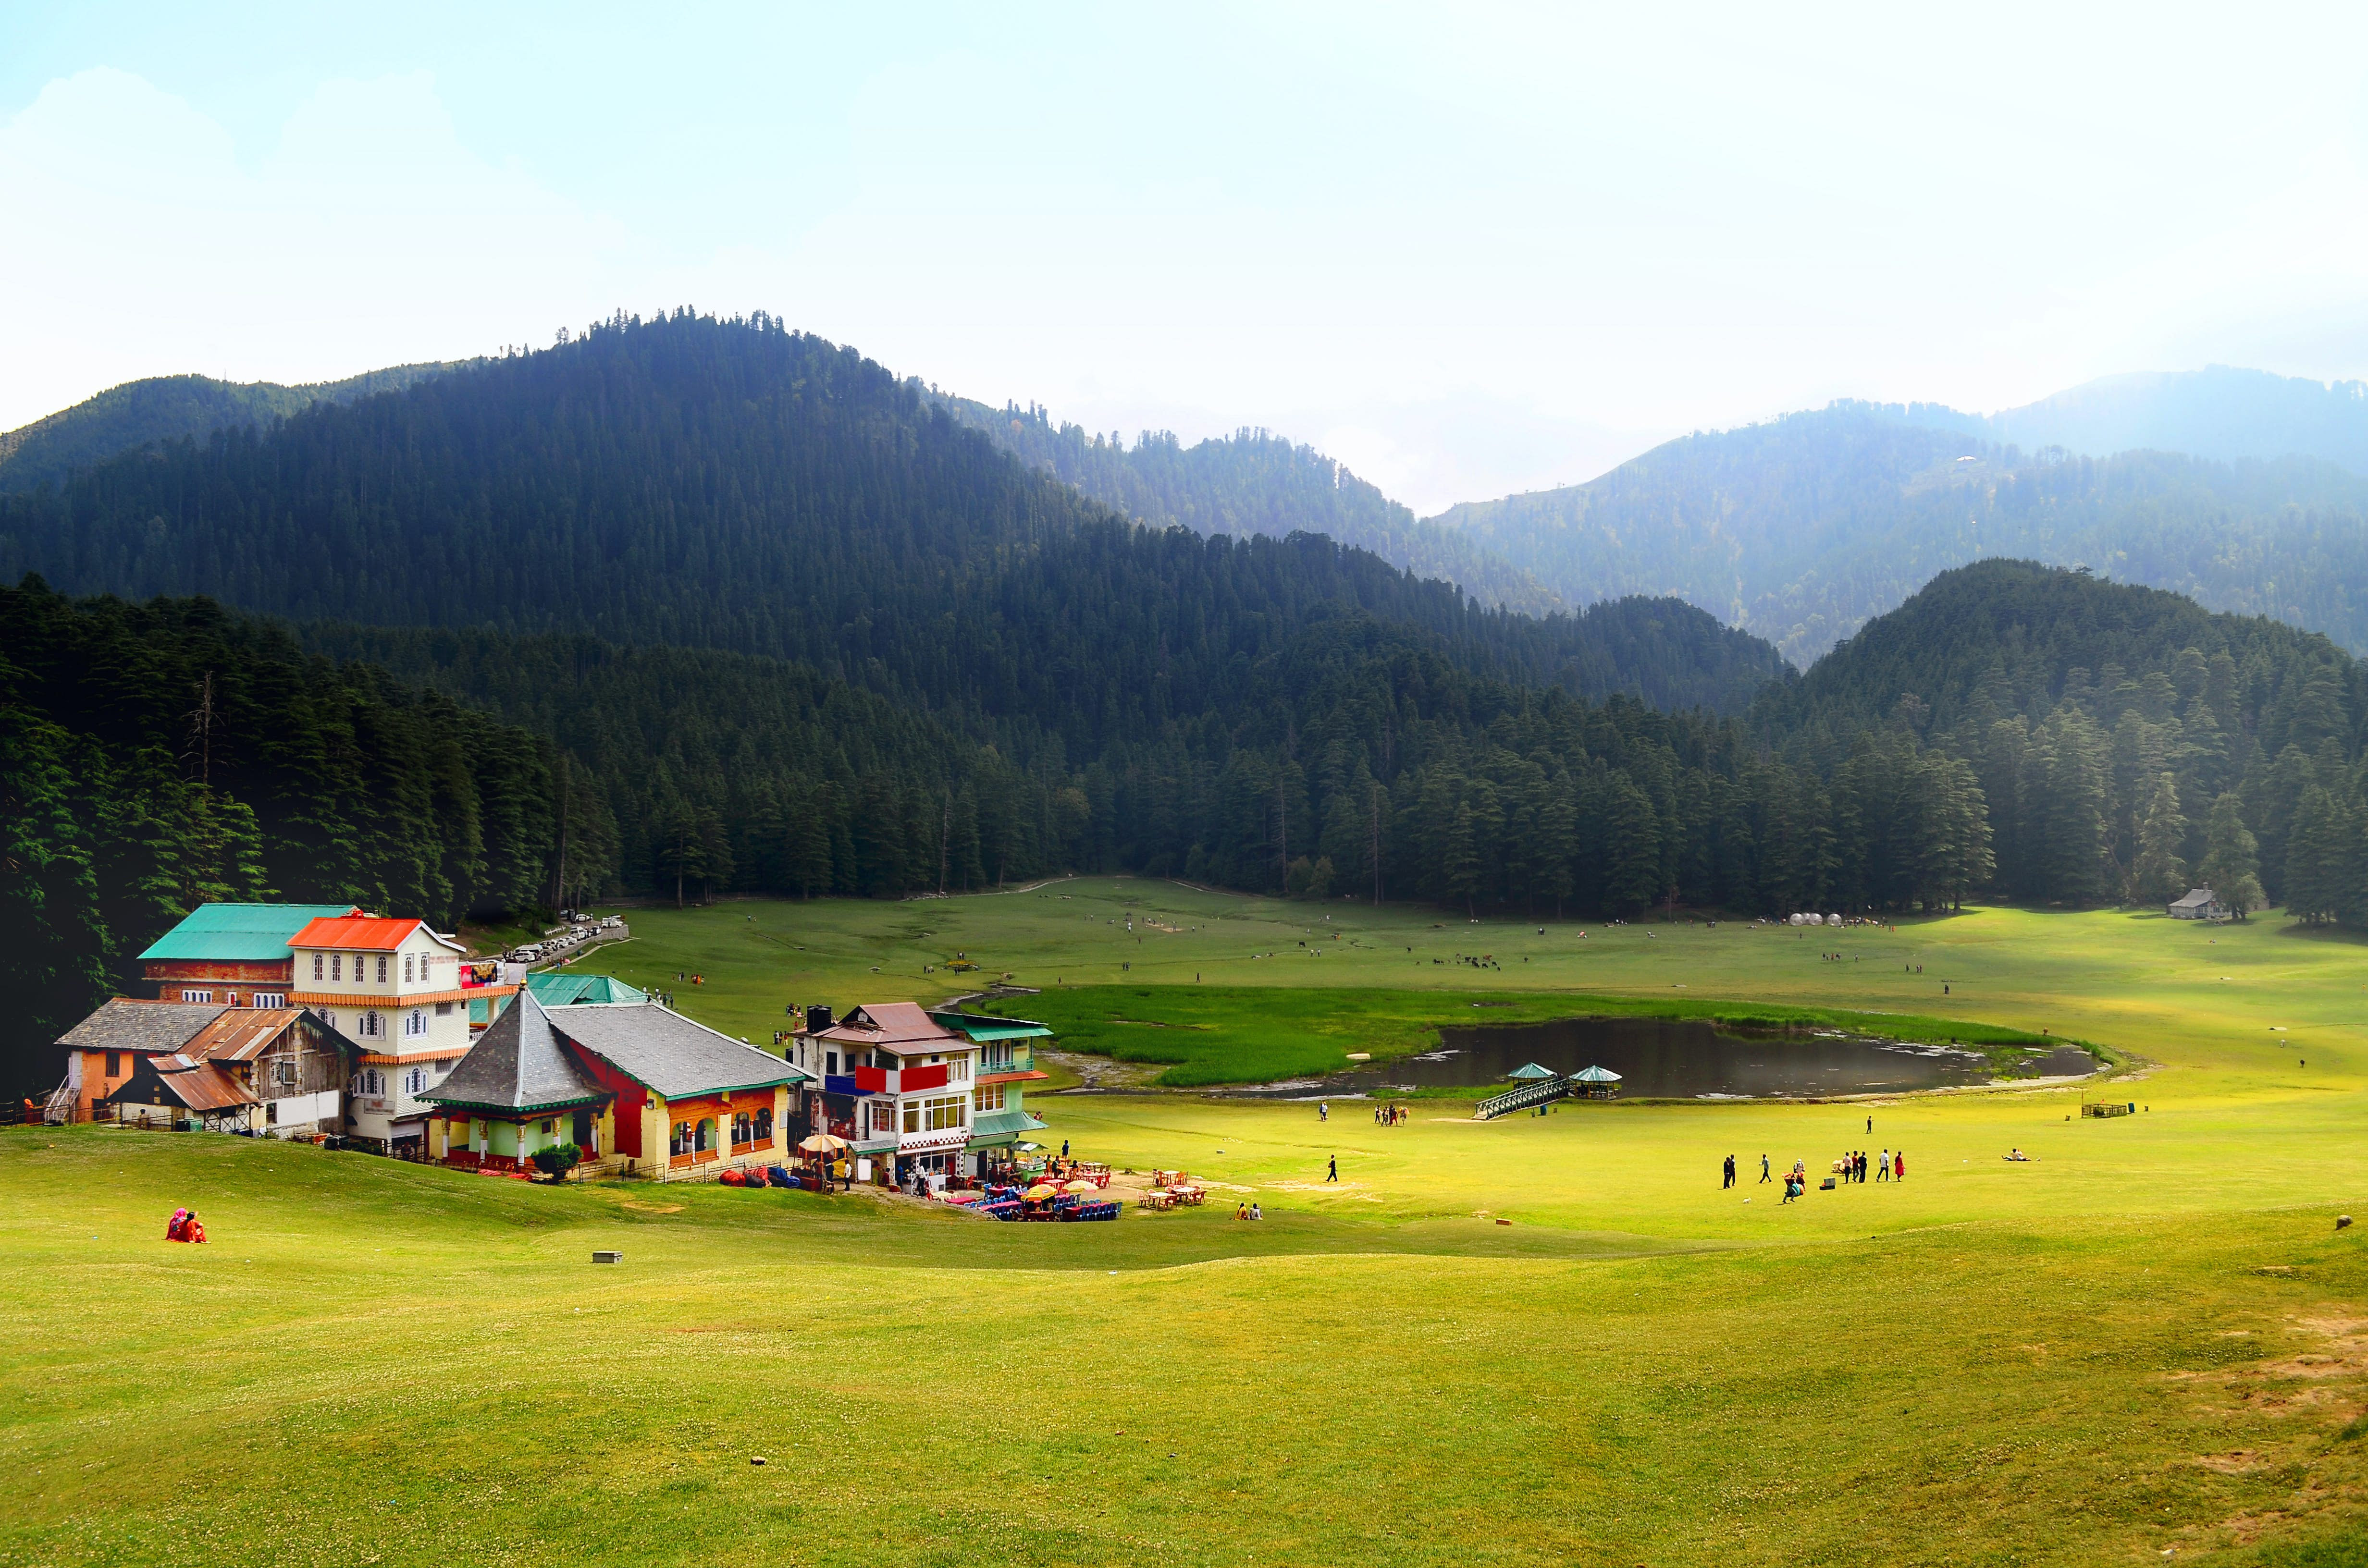
[[2368, 374], [2368, 9], [0, 7], [0, 429], [772, 310], [1416, 509], [1835, 396]]

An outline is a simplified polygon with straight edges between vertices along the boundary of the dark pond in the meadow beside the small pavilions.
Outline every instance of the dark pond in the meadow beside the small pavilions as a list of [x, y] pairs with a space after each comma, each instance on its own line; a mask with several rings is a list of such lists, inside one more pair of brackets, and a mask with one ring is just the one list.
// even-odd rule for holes
[[[1504, 1085], [1534, 1061], [1556, 1073], [1601, 1066], [1620, 1073], [1624, 1099], [1802, 1099], [1819, 1094], [1904, 1094], [1996, 1078], [2093, 1073], [2079, 1047], [2027, 1052], [2018, 1066], [1946, 1045], [1909, 1045], [1840, 1033], [1740, 1035], [1700, 1018], [1556, 1018], [1551, 1023], [1444, 1026], [1440, 1045], [1321, 1080], [1267, 1085], [1262, 1097], [1390, 1094]], [[1511, 1087], [1511, 1085], [1506, 1085]]]

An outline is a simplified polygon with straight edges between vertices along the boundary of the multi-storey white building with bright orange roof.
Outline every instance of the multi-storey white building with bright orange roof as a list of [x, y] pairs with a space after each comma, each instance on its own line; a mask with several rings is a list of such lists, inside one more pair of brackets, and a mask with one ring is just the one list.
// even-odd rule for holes
[[355, 1047], [346, 1135], [388, 1153], [424, 1139], [436, 1106], [419, 1099], [469, 1054], [464, 947], [417, 919], [346, 914], [289, 938], [289, 1002], [313, 1009]]

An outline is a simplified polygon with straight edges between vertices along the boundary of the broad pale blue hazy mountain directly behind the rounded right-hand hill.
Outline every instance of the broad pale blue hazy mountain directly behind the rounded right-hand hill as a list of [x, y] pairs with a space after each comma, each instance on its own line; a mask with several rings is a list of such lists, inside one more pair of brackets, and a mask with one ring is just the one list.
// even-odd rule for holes
[[1437, 521], [1565, 597], [1677, 595], [1802, 666], [1982, 557], [2091, 566], [2368, 647], [2354, 587], [2368, 583], [2368, 481], [2309, 457], [2034, 457], [1963, 426], [1949, 410], [1838, 403]]

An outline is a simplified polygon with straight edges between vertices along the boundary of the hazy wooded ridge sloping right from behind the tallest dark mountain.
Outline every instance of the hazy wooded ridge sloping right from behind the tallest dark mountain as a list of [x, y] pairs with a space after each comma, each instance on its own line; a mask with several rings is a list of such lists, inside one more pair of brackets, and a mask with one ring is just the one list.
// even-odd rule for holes
[[1324, 533], [1418, 578], [1456, 583], [1494, 609], [1527, 616], [1568, 609], [1532, 573], [1454, 528], [1418, 521], [1324, 452], [1267, 431], [1243, 429], [1189, 448], [1172, 431], [1144, 431], [1127, 448], [1115, 431], [1056, 426], [1042, 407], [987, 407], [935, 391], [931, 398], [1023, 462], [1139, 523], [1234, 538]]

